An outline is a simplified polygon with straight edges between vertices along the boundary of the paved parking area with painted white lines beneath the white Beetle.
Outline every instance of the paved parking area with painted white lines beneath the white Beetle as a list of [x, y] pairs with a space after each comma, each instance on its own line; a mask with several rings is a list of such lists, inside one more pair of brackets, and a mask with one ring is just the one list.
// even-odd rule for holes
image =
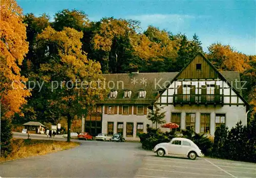
[[256, 164], [228, 160], [157, 157], [148, 153], [135, 177], [256, 177]]

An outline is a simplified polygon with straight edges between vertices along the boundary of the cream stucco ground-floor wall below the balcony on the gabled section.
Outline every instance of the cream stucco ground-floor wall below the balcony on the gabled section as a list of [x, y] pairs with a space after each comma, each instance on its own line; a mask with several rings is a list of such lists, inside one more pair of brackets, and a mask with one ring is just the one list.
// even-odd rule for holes
[[[162, 105], [163, 106], [163, 105]], [[166, 122], [171, 122], [171, 113], [178, 112], [181, 113], [181, 129], [185, 129], [185, 117], [186, 113], [196, 113], [196, 123], [195, 123], [195, 131], [200, 133], [200, 115], [201, 113], [209, 113], [210, 114], [210, 134], [214, 135], [215, 132], [215, 115], [216, 114], [225, 114], [226, 116], [226, 126], [231, 129], [233, 126], [236, 125], [237, 122], [240, 120], [242, 124], [246, 123], [246, 106], [243, 105], [224, 105], [224, 106], [189, 106], [183, 105], [175, 107], [173, 105], [164, 106], [163, 111], [165, 113], [165, 120]], [[164, 130], [164, 129], [163, 129]], [[164, 130], [166, 131], [166, 130]]]

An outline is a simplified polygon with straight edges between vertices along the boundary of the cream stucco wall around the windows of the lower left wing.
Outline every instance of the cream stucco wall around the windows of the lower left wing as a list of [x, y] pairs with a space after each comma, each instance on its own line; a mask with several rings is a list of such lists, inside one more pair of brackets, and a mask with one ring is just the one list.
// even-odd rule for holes
[[[103, 106], [103, 111], [104, 111]], [[134, 109], [134, 107], [133, 107]], [[119, 112], [119, 109], [117, 110]], [[147, 110], [148, 111], [148, 110]], [[146, 115], [122, 115], [119, 114], [109, 115], [102, 113], [102, 133], [107, 134], [108, 122], [114, 122], [114, 134], [117, 132], [117, 122], [123, 122], [123, 137], [125, 140], [140, 140], [136, 137], [137, 133], [137, 122], [143, 123], [143, 132], [146, 132], [146, 124], [152, 126], [152, 122], [146, 118]], [[133, 110], [132, 110], [133, 113]], [[126, 137], [126, 122], [133, 122], [133, 137]]]

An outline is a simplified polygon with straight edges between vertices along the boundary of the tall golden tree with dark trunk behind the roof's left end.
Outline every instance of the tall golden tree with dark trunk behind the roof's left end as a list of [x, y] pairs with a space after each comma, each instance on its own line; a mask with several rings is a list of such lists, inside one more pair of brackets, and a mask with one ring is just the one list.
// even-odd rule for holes
[[[118, 45], [118, 42], [128, 42], [129, 36], [135, 34], [138, 28], [135, 21], [124, 19], [102, 18], [99, 22], [94, 24], [93, 38], [91, 43], [94, 51], [101, 56], [101, 64], [104, 72], [115, 71], [116, 68], [110, 68], [110, 62], [119, 64], [119, 50], [113, 48]], [[113, 55], [112, 55], [113, 54]]]

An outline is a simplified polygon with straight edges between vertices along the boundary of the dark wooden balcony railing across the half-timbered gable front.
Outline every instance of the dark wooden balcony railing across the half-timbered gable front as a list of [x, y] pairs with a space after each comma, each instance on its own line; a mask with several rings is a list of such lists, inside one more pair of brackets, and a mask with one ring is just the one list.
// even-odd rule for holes
[[223, 104], [222, 94], [175, 94], [175, 104]]

